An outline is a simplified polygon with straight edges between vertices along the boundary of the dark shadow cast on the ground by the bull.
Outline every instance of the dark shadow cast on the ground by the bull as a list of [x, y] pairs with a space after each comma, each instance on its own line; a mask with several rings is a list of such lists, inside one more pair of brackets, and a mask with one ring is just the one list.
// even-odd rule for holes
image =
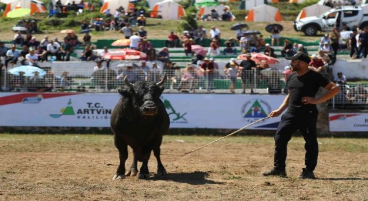
[[179, 183], [187, 183], [192, 185], [203, 185], [203, 184], [222, 184], [223, 182], [216, 182], [208, 180], [209, 176], [206, 172], [193, 172], [193, 173], [169, 173], [165, 176], [154, 176], [151, 180], [165, 180], [174, 181]]

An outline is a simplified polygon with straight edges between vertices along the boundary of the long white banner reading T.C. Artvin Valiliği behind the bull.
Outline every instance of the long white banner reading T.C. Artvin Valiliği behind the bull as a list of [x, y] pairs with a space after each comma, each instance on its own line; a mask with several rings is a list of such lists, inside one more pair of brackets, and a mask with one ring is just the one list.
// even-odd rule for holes
[[[277, 109], [285, 95], [162, 94], [173, 128], [246, 126]], [[0, 126], [109, 127], [117, 93], [0, 93]], [[280, 117], [250, 129], [276, 129]]]

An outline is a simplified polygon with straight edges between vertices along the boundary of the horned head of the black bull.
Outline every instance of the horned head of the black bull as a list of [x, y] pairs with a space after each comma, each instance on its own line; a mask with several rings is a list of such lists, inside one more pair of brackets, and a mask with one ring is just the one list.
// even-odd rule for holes
[[151, 81], [139, 81], [132, 84], [128, 75], [124, 78], [125, 88], [118, 89], [119, 93], [126, 99], [131, 99], [133, 107], [139, 109], [143, 116], [155, 116], [158, 113], [159, 98], [163, 92], [167, 75], [154, 83]]

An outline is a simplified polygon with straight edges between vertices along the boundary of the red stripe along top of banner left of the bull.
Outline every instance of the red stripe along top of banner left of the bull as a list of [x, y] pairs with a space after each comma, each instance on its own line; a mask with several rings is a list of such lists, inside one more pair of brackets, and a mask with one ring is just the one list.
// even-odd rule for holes
[[0, 97], [0, 105], [6, 105], [6, 104], [14, 104], [22, 102], [23, 99], [29, 98], [29, 97], [37, 97], [39, 95], [42, 96], [42, 99], [51, 99], [51, 98], [57, 98], [57, 97], [63, 97], [63, 96], [72, 96], [77, 95], [79, 93], [47, 93], [47, 94], [37, 94], [37, 93], [22, 93], [22, 94], [15, 94], [10, 96], [4, 96]]

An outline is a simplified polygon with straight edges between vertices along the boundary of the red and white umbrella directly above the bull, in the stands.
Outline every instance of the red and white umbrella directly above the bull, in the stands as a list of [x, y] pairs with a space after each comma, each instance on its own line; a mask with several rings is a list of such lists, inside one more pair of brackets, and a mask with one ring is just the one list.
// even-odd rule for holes
[[138, 50], [119, 49], [105, 53], [104, 58], [111, 60], [139, 60], [146, 59], [147, 54]]

